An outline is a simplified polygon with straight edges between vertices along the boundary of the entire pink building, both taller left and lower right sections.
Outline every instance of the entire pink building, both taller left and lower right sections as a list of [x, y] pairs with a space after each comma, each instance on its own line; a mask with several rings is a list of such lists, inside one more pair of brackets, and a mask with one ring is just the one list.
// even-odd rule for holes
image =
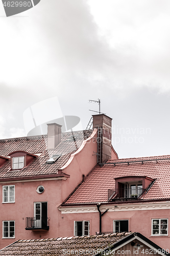
[[111, 118], [93, 130], [0, 140], [3, 248], [19, 239], [140, 232], [169, 249], [170, 156], [118, 159]]

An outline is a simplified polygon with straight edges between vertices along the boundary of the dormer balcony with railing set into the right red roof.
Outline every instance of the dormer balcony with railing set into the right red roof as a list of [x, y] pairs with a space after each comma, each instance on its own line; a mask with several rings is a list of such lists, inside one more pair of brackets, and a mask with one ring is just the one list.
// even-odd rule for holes
[[145, 190], [141, 187], [108, 189], [108, 201], [139, 200]]

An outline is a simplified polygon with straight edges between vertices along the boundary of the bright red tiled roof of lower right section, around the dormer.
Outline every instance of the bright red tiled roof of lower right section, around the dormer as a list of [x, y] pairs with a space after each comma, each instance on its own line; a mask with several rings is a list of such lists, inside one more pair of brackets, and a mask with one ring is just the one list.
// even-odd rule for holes
[[[128, 161], [132, 162], [128, 165]], [[158, 156], [108, 160], [103, 166], [95, 166], [65, 204], [108, 202], [108, 189], [115, 189], [115, 178], [127, 176], [147, 176], [156, 179], [141, 199], [170, 198], [170, 156]]]

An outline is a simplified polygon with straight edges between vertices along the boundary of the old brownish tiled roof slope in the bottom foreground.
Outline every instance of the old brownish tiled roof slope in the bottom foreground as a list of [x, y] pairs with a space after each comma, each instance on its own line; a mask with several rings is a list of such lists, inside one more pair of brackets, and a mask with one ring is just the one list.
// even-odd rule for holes
[[[133, 234], [132, 232], [114, 233], [102, 236], [88, 236], [88, 237], [72, 237], [72, 238], [58, 238], [58, 239], [39, 239], [39, 240], [18, 240], [15, 243], [0, 250], [0, 255], [64, 255], [65, 250], [93, 250], [105, 249], [127, 236]], [[82, 255], [82, 252], [76, 253]], [[91, 254], [90, 254], [91, 255]]]

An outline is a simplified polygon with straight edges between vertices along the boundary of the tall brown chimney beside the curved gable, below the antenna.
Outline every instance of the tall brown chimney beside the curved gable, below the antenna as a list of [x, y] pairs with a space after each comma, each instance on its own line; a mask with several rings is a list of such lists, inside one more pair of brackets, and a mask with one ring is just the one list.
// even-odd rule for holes
[[111, 159], [112, 118], [93, 115], [93, 128], [98, 128], [98, 163]]

